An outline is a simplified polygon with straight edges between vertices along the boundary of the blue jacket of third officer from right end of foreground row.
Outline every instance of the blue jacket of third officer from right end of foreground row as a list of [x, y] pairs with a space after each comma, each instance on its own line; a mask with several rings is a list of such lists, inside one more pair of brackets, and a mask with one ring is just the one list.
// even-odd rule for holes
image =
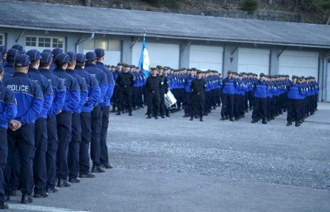
[[90, 112], [92, 111], [97, 100], [100, 99], [101, 97], [100, 87], [98, 87], [98, 82], [96, 78], [90, 75], [83, 68], [76, 67], [75, 71], [79, 76], [81, 76], [85, 80], [88, 91], [86, 103], [81, 107], [81, 111]]

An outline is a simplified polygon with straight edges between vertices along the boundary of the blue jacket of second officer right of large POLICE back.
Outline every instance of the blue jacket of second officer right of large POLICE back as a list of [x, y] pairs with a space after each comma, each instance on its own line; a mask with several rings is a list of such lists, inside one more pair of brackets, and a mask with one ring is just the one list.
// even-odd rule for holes
[[47, 117], [54, 117], [62, 108], [65, 102], [65, 86], [57, 76], [45, 68], [39, 69], [40, 73], [48, 79], [53, 89], [53, 102], [48, 110]]

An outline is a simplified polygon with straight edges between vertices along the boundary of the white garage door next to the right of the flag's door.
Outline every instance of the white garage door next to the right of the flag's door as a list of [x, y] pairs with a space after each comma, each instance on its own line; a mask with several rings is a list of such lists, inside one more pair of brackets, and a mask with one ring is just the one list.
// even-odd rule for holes
[[189, 67], [201, 70], [212, 69], [222, 72], [223, 48], [190, 46]]

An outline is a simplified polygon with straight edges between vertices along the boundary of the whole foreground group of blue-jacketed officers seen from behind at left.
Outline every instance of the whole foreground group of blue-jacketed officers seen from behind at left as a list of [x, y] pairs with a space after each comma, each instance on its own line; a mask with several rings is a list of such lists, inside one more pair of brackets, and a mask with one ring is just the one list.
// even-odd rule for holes
[[18, 189], [30, 203], [112, 168], [106, 135], [115, 82], [105, 51], [0, 51], [0, 209]]

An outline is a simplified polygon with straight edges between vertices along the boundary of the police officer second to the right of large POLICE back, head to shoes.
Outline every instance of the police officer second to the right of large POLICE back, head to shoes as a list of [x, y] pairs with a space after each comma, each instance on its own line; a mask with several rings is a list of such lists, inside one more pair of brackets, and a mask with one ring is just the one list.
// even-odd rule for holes
[[52, 63], [53, 55], [47, 52], [40, 54], [40, 73], [48, 79], [53, 90], [53, 102], [47, 112], [47, 152], [46, 152], [46, 167], [47, 167], [47, 184], [46, 191], [57, 192], [55, 186], [56, 178], [56, 153], [58, 147], [57, 140], [57, 123], [56, 114], [61, 112], [65, 101], [65, 86], [61, 79], [55, 76], [49, 69]]

